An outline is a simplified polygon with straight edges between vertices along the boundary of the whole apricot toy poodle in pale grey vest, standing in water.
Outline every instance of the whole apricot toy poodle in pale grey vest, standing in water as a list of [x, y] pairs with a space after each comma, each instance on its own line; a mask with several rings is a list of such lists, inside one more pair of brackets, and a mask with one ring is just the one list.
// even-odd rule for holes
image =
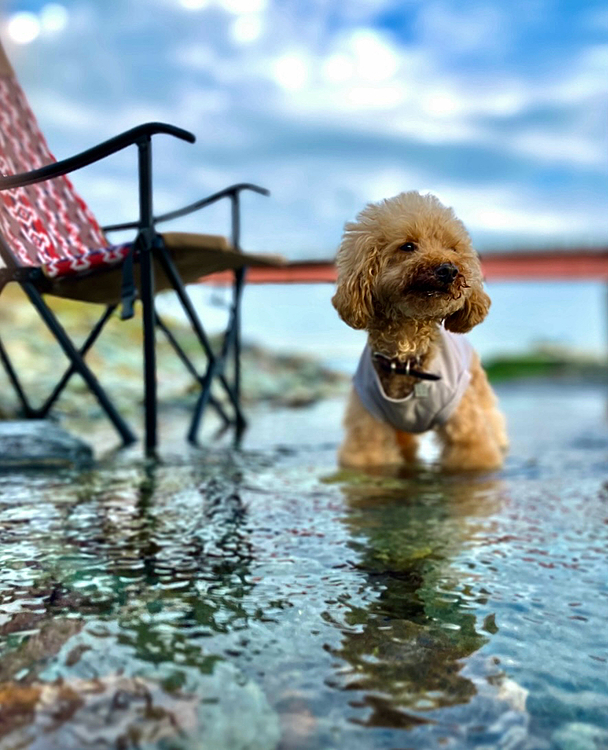
[[505, 421], [479, 357], [462, 335], [486, 317], [479, 257], [451, 208], [410, 191], [346, 224], [333, 304], [368, 341], [339, 451], [345, 467], [415, 461], [434, 430], [447, 471], [500, 468]]

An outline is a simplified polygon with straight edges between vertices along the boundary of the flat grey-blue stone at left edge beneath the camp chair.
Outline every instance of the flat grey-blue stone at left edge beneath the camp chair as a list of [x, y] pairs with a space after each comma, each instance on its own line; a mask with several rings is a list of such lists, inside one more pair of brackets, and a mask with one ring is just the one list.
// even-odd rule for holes
[[0, 422], [0, 470], [83, 466], [92, 460], [87, 443], [53, 422]]

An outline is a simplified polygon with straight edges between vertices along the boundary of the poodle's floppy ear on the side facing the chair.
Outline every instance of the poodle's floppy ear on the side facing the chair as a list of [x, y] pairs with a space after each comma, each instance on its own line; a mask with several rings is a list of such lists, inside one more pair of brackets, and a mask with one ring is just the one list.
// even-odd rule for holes
[[372, 284], [378, 272], [378, 248], [368, 233], [347, 224], [338, 251], [338, 286], [332, 304], [351, 328], [366, 328], [374, 313]]

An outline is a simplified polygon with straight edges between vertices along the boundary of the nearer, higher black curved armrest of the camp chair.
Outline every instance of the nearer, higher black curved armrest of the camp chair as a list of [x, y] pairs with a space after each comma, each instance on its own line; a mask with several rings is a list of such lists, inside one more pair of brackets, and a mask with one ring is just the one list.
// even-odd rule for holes
[[188, 141], [188, 143], [194, 143], [196, 140], [192, 133], [182, 130], [182, 128], [177, 128], [174, 125], [168, 125], [163, 122], [147, 122], [144, 125], [131, 128], [131, 130], [127, 130], [114, 138], [103, 141], [103, 143], [93, 146], [93, 148], [82, 151], [80, 154], [76, 154], [76, 156], [70, 156], [62, 161], [40, 167], [40, 169], [33, 169], [31, 172], [22, 172], [21, 174], [10, 176], [3, 175], [0, 177], [0, 190], [25, 187], [35, 182], [44, 182], [53, 177], [61, 177], [64, 174], [104, 159], [106, 156], [121, 151], [127, 146], [140, 143], [142, 140], [148, 140], [152, 135], [156, 135], [157, 133], [172, 135], [175, 138]]

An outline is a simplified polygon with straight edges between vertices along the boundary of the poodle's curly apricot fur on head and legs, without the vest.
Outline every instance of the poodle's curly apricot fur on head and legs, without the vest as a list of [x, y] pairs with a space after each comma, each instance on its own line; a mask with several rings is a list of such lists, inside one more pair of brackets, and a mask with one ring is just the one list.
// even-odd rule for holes
[[[413, 243], [414, 249], [404, 250], [405, 243]], [[437, 280], [443, 264], [456, 266], [449, 284]], [[424, 365], [432, 358], [442, 323], [449, 331], [465, 333], [490, 308], [479, 257], [464, 224], [433, 195], [410, 191], [367, 205], [356, 221], [346, 224], [336, 265], [334, 307], [349, 326], [368, 331], [372, 350], [389, 357], [415, 356]], [[380, 377], [392, 397], [402, 397], [415, 382], [405, 375]], [[416, 437], [379, 422], [354, 390], [345, 427], [339, 453], [343, 466], [415, 460]], [[477, 357], [460, 405], [436, 432], [445, 469], [502, 465], [508, 445], [504, 418]]]

